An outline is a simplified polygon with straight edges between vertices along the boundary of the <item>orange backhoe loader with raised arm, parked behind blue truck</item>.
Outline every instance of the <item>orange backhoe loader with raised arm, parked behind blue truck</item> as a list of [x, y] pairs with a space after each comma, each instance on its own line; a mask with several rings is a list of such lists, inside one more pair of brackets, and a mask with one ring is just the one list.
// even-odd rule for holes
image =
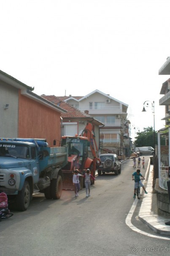
[[[98, 147], [95, 140], [94, 125], [87, 123], [80, 136], [62, 136], [61, 146], [68, 147], [67, 165], [62, 168], [64, 176], [63, 189], [74, 190], [73, 172], [78, 169], [80, 174], [84, 174], [86, 169], [90, 169], [92, 176], [95, 177], [95, 171], [100, 165]], [[92, 158], [88, 156], [88, 148]], [[91, 181], [94, 184], [94, 180]], [[80, 177], [80, 187], [84, 187], [84, 179]]]

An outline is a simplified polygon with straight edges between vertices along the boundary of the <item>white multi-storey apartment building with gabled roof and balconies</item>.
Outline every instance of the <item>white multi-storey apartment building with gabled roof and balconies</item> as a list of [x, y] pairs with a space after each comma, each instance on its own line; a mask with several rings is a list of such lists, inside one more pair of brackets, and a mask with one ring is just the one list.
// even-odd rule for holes
[[127, 120], [128, 105], [99, 90], [85, 96], [58, 96], [101, 123], [100, 150], [113, 151], [118, 155], [130, 155], [131, 138]]

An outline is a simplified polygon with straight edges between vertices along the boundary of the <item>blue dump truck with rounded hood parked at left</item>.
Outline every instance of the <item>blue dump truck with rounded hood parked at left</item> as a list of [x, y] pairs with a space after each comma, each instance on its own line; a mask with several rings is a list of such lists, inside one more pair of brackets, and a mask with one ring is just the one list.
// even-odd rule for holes
[[33, 193], [59, 199], [67, 157], [66, 146], [50, 148], [45, 139], [0, 139], [0, 193], [19, 211], [27, 210]]

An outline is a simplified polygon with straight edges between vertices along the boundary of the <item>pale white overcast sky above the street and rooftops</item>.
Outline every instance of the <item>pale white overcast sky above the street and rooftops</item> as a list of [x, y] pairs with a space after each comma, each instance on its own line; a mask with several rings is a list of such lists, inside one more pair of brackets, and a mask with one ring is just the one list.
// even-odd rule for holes
[[170, 56], [169, 0], [0, 0], [0, 6], [0, 70], [38, 95], [110, 94], [128, 105], [132, 137], [154, 127], [154, 119], [156, 131], [164, 127], [160, 90], [170, 75], [158, 72]]

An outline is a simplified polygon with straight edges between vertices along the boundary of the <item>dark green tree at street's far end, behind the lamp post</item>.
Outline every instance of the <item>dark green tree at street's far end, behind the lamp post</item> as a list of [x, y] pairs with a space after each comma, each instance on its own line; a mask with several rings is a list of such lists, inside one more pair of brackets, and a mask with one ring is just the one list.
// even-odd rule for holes
[[[157, 132], [155, 132], [155, 144], [157, 145]], [[153, 127], [143, 128], [143, 132], [137, 132], [137, 136], [135, 137], [135, 145], [137, 147], [151, 146], [154, 148]]]

